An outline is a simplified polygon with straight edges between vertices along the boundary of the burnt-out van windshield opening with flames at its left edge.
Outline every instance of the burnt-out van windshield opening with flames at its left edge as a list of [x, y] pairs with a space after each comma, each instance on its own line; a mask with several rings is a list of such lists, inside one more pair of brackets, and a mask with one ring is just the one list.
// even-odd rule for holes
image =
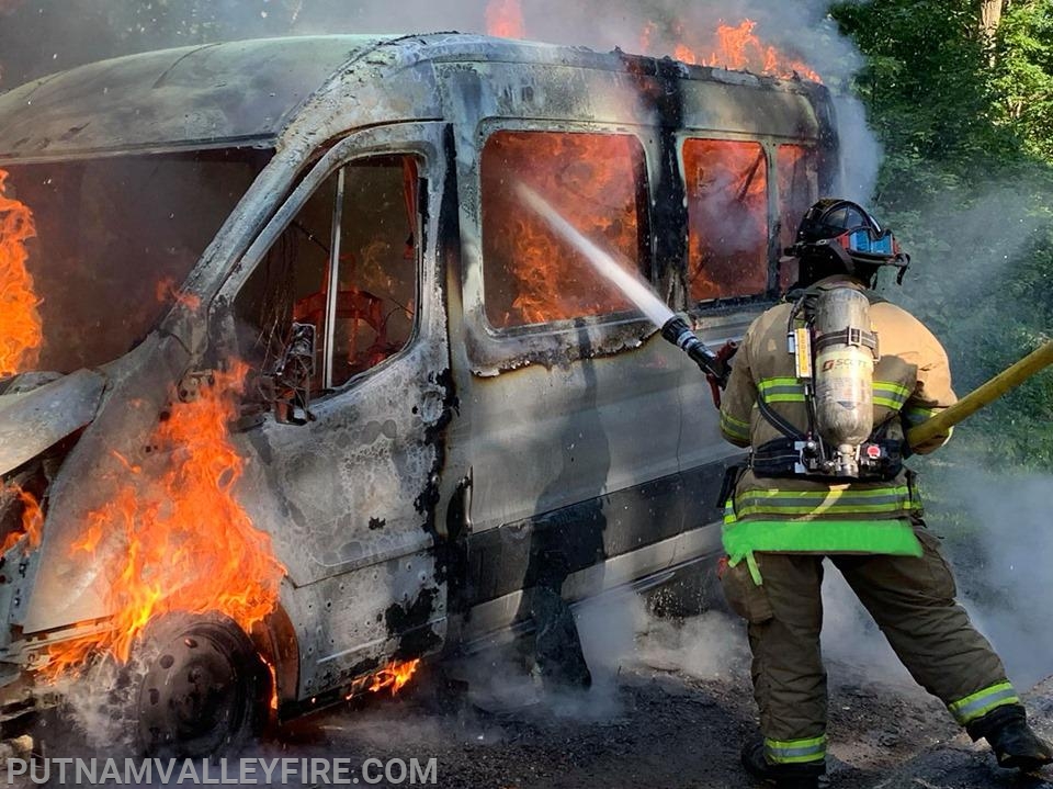
[[270, 157], [0, 166], [0, 379], [98, 367], [140, 342]]

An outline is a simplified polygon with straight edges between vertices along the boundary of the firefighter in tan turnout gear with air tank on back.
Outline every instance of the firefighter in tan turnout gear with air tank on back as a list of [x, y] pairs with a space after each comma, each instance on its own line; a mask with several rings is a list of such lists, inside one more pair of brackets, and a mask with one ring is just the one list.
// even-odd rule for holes
[[721, 567], [754, 656], [760, 737], [744, 767], [780, 787], [815, 787], [825, 771], [824, 557], [999, 766], [1050, 763], [1001, 661], [954, 600], [902, 462], [947, 441], [908, 447], [905, 429], [955, 401], [939, 341], [871, 290], [883, 266], [902, 281], [909, 258], [867, 211], [834, 199], [807, 211], [788, 253], [797, 284], [747, 330], [721, 406], [724, 437], [750, 448], [728, 485]]

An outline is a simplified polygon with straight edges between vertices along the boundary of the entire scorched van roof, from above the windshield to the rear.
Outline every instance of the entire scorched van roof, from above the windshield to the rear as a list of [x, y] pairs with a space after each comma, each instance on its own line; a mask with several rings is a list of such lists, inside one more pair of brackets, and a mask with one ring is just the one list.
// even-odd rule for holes
[[[377, 76], [422, 60], [548, 63], [637, 74], [659, 63], [619, 50], [458, 33], [297, 36], [143, 53], [80, 66], [0, 94], [0, 164], [136, 150], [273, 147], [308, 100], [327, 92], [333, 76], [350, 78], [355, 64]], [[778, 86], [783, 93], [825, 92], [799, 80], [677, 66], [687, 79]], [[418, 113], [423, 110], [420, 97], [406, 99]]]

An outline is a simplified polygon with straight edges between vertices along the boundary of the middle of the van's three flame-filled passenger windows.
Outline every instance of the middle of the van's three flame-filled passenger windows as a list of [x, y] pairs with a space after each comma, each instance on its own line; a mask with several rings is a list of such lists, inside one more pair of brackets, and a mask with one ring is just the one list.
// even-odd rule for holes
[[692, 303], [768, 288], [768, 158], [759, 143], [687, 139], [688, 293]]

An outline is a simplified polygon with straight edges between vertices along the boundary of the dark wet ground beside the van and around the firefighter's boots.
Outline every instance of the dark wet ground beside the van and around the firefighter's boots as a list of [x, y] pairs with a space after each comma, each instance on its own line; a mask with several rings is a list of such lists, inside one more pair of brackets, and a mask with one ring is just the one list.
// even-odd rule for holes
[[[687, 630], [692, 627], [689, 621]], [[263, 751], [355, 762], [433, 757], [442, 787], [745, 789], [754, 785], [741, 773], [738, 751], [755, 719], [748, 658], [734, 629], [726, 620], [710, 621], [684, 635], [684, 628], [652, 623], [613, 673], [599, 673], [589, 694], [533, 698], [519, 707], [485, 692], [444, 695], [426, 674], [411, 692], [320, 715]], [[705, 652], [700, 636], [721, 634], [734, 644], [716, 654], [723, 665], [691, 662], [686, 649]], [[989, 752], [974, 746], [939, 701], [909, 679], [868, 680], [859, 666], [837, 660], [828, 668], [831, 789], [1053, 786], [1053, 775], [1021, 779], [998, 769]], [[476, 663], [468, 670], [502, 676], [505, 667]], [[509, 685], [517, 681], [509, 678]], [[1053, 684], [1029, 703], [1038, 728], [1053, 734]]]

